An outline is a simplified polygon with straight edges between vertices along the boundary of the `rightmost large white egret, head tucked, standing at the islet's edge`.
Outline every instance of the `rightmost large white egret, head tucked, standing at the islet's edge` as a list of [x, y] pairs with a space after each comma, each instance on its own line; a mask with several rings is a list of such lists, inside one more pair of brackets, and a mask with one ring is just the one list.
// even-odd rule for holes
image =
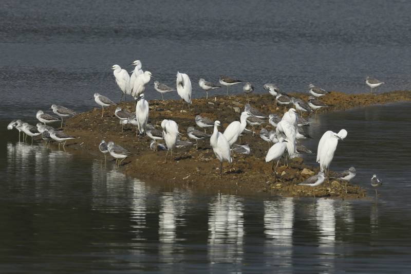
[[327, 131], [323, 134], [318, 144], [317, 162], [320, 163], [321, 171], [325, 171], [328, 179], [328, 168], [337, 149], [338, 140], [344, 140], [347, 131], [341, 130], [339, 133]]

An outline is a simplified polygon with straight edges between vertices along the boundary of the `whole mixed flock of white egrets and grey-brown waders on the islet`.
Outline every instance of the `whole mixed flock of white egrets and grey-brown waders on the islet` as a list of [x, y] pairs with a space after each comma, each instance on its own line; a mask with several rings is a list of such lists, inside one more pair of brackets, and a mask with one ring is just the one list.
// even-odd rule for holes
[[[157, 130], [155, 126], [151, 124], [147, 124], [150, 108], [148, 102], [144, 99], [144, 91], [146, 85], [150, 82], [151, 78], [153, 78], [153, 75], [150, 71], [142, 70], [142, 63], [139, 60], [132, 62], [132, 65], [135, 66], [132, 75], [129, 75], [128, 72], [125, 69], [122, 69], [119, 65], [113, 65], [111, 67], [111, 69], [113, 69], [116, 83], [121, 91], [120, 102], [122, 101], [124, 95], [132, 96], [135, 100], [136, 107], [135, 113], [130, 113], [118, 106], [115, 111], [115, 116], [119, 119], [122, 127], [123, 124], [133, 124], [137, 126], [136, 134], [138, 136], [146, 134], [149, 138], [151, 138], [153, 140], [153, 142], [151, 143], [153, 150], [166, 149], [167, 153], [164, 159], [164, 162], [166, 162], [169, 152], [172, 155], [173, 149], [178, 147], [178, 144], [183, 147], [192, 143], [179, 140], [181, 133], [179, 132], [178, 124], [174, 120], [164, 119], [161, 122], [162, 131]], [[242, 81], [226, 76], [220, 76], [219, 83], [227, 87], [228, 96], [229, 86], [242, 83]], [[210, 90], [221, 87], [202, 78], [199, 79], [198, 84], [204, 91], [206, 91], [207, 98], [208, 92]], [[373, 88], [376, 88], [377, 86], [383, 84], [383, 82], [367, 77], [366, 84], [371, 87], [372, 92]], [[155, 90], [157, 90], [157, 92], [161, 93], [162, 98], [164, 93], [169, 93], [176, 90], [177, 94], [182, 99], [182, 108], [184, 107], [185, 103], [188, 104], [189, 114], [191, 114], [190, 105], [192, 103], [193, 87], [188, 75], [177, 72], [176, 88], [162, 84], [159, 81], [154, 82], [154, 88]], [[296, 99], [287, 95], [274, 84], [265, 84], [263, 88], [275, 97], [276, 105], [288, 105], [294, 106], [295, 108], [289, 108], [282, 117], [275, 114], [266, 115], [258, 111], [258, 109], [252, 107], [249, 104], [248, 100], [248, 104], [246, 104], [244, 111], [240, 114], [239, 121], [231, 122], [223, 132], [219, 132], [218, 130], [218, 127], [221, 126], [220, 121], [212, 121], [207, 117], [201, 117], [200, 115], [197, 115], [194, 121], [197, 126], [204, 129], [204, 133], [202, 131], [196, 130], [194, 127], [189, 127], [189, 129], [187, 130], [188, 137], [190, 139], [196, 140], [197, 146], [198, 140], [210, 139], [211, 148], [213, 149], [216, 158], [220, 161], [220, 178], [222, 176], [222, 163], [224, 161], [227, 161], [231, 164], [233, 161], [233, 152], [244, 154], [250, 153], [249, 145], [236, 144], [238, 140], [240, 141], [242, 134], [244, 134], [246, 131], [250, 131], [246, 129], [247, 124], [253, 127], [251, 131], [253, 135], [254, 126], [260, 125], [261, 123], [264, 123], [266, 121], [273, 125], [273, 127], [275, 128], [270, 132], [268, 132], [266, 129], [260, 131], [261, 138], [263, 138], [268, 143], [274, 143], [269, 148], [265, 157], [265, 161], [272, 162], [272, 170], [275, 177], [277, 176], [278, 164], [282, 158], [285, 159], [285, 165], [288, 166], [288, 159], [294, 158], [300, 153], [311, 152], [310, 150], [305, 148], [304, 145], [300, 144], [300, 140], [309, 137], [304, 131], [304, 126], [309, 125], [309, 122], [302, 117], [302, 114], [303, 112], [316, 113], [318, 109], [327, 107], [327, 105], [321, 102], [319, 99], [322, 96], [329, 94], [329, 92], [310, 84], [309, 93], [312, 95], [312, 97], [310, 97], [308, 102], [304, 102], [301, 99]], [[243, 90], [248, 97], [248, 95], [253, 92], [254, 87], [250, 82], [246, 82]], [[94, 94], [94, 99], [96, 103], [102, 107], [102, 117], [104, 116], [104, 107], [117, 105], [117, 103], [115, 103], [114, 101], [98, 93]], [[45, 114], [43, 111], [38, 111], [36, 114], [36, 119], [38, 119], [40, 123], [38, 123], [36, 126], [30, 125], [28, 123], [23, 123], [21, 120], [13, 120], [12, 122], [10, 122], [7, 128], [9, 130], [13, 128], [17, 129], [19, 132], [19, 140], [20, 132], [26, 134], [26, 137], [31, 136], [32, 138], [41, 135], [42, 139], [44, 139], [46, 142], [50, 142], [51, 140], [57, 141], [59, 143], [59, 148], [60, 143], [63, 143], [64, 148], [64, 144], [67, 140], [77, 137], [69, 136], [62, 130], [54, 129], [47, 124], [61, 121], [61, 126], [63, 126], [63, 119], [72, 117], [77, 113], [69, 108], [55, 104], [51, 106], [51, 109], [53, 113], [57, 114], [59, 117]], [[301, 113], [301, 116], [298, 115], [298, 112]], [[206, 133], [207, 127], [214, 128], [211, 135]], [[24, 140], [26, 139], [26, 137], [24, 137]], [[339, 140], [344, 140], [346, 137], [347, 131], [344, 129], [340, 130], [340, 132], [338, 133], [327, 131], [323, 134], [318, 144], [316, 157], [316, 161], [320, 165], [320, 172], [314, 176], [309, 177], [300, 185], [315, 187], [321, 185], [326, 178], [328, 179], [328, 170], [334, 157], [335, 150], [337, 149], [338, 142]], [[164, 140], [165, 147], [163, 144], [158, 145], [158, 140]], [[104, 140], [100, 143], [99, 150], [104, 153], [104, 155], [109, 153], [111, 156], [116, 158], [116, 163], [118, 162], [118, 165], [120, 165], [121, 161], [123, 161], [130, 154], [128, 150], [122, 148], [120, 145], [115, 144], [114, 142], [106, 143]], [[356, 176], [356, 170], [351, 167], [347, 171], [343, 171], [337, 175], [334, 175], [334, 178], [349, 181], [354, 176]], [[381, 182], [379, 181], [379, 179], [377, 179], [376, 176], [373, 176], [371, 179], [371, 185], [373, 187], [378, 187], [381, 185]]]

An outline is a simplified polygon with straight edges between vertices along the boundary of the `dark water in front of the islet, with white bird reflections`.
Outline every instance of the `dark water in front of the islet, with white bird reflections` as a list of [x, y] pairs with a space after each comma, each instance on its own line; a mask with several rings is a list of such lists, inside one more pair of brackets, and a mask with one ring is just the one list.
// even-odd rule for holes
[[[407, 272], [411, 105], [320, 116], [348, 131], [332, 162], [353, 165], [378, 202], [227, 195], [147, 184], [102, 156], [0, 139], [2, 272]], [[2, 128], [6, 124], [0, 125]], [[314, 158], [307, 157], [312, 163]], [[265, 164], [265, 163], [261, 163]]]

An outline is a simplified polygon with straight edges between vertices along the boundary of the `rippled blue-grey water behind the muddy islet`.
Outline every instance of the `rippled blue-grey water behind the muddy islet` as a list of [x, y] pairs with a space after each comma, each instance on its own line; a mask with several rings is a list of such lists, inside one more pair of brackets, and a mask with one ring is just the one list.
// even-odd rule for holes
[[[32, 117], [52, 103], [86, 109], [95, 92], [119, 100], [104, 69], [136, 59], [170, 85], [186, 72], [193, 98], [204, 95], [200, 77], [219, 74], [255, 92], [266, 82], [365, 92], [367, 75], [386, 82], [380, 91], [409, 89], [410, 10], [409, 1], [382, 0], [2, 2], [0, 117]], [[151, 85], [146, 97], [160, 98]]]

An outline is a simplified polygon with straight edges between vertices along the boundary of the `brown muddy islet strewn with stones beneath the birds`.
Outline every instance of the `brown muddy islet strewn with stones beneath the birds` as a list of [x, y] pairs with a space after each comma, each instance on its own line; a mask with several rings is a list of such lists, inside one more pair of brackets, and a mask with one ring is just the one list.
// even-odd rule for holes
[[[378, 95], [359, 94], [348, 95], [340, 92], [332, 92], [322, 99], [323, 102], [332, 105], [321, 112], [343, 110], [359, 106], [372, 104], [383, 104], [397, 101], [411, 100], [411, 93], [398, 91]], [[306, 100], [307, 94], [292, 94], [296, 98]], [[274, 98], [267, 95], [250, 96], [250, 104], [263, 113], [284, 113], [284, 107], [275, 107]], [[213, 120], [220, 120], [226, 127], [230, 122], [239, 120], [238, 108], [244, 109], [247, 102], [245, 96], [209, 97], [206, 99], [194, 99], [191, 115], [188, 109], [181, 112], [181, 101], [177, 100], [153, 100], [150, 101], [149, 122], [153, 125], [160, 124], [163, 119], [173, 119], [179, 124], [180, 132], [183, 134], [181, 140], [189, 140], [186, 135], [188, 126], [196, 126], [194, 117], [197, 114], [209, 117]], [[122, 108], [134, 112], [133, 103], [122, 103]], [[119, 120], [114, 116], [115, 107], [105, 108], [104, 117], [101, 118], [101, 108], [94, 108], [90, 112], [82, 113], [67, 121], [65, 131], [68, 134], [79, 136], [80, 139], [72, 142], [68, 148], [79, 148], [88, 151], [97, 157], [104, 157], [98, 150], [98, 145], [102, 139], [114, 141], [122, 147], [132, 152], [120, 166], [126, 174], [135, 176], [145, 181], [164, 182], [172, 185], [184, 187], [199, 187], [221, 190], [225, 192], [268, 192], [273, 195], [282, 196], [329, 196], [342, 198], [361, 198], [365, 197], [366, 191], [357, 185], [347, 185], [345, 182], [332, 181], [325, 182], [315, 188], [298, 186], [298, 182], [318, 172], [317, 167], [304, 164], [302, 158], [295, 158], [290, 162], [288, 168], [279, 167], [277, 178], [273, 175], [271, 163], [265, 163], [265, 155], [268, 151], [268, 143], [259, 136], [259, 130], [266, 127], [273, 130], [267, 123], [256, 127], [256, 136], [245, 134], [241, 138], [241, 143], [250, 145], [250, 155], [234, 154], [233, 164], [223, 164], [222, 178], [219, 178], [219, 161], [215, 158], [210, 147], [209, 140], [199, 141], [199, 148], [175, 149], [173, 157], [164, 162], [165, 151], [153, 152], [150, 149], [151, 139], [146, 136], [136, 137], [135, 126], [126, 125], [124, 132], [121, 132]], [[304, 115], [307, 117], [308, 115]], [[247, 127], [251, 129], [250, 126]], [[220, 129], [222, 131], [223, 129]], [[208, 129], [211, 134], [212, 128]], [[190, 140], [193, 141], [193, 140]], [[194, 141], [195, 142], [195, 141]], [[302, 142], [304, 143], [304, 142]], [[338, 157], [338, 155], [336, 155]], [[111, 160], [108, 155], [107, 159]]]

